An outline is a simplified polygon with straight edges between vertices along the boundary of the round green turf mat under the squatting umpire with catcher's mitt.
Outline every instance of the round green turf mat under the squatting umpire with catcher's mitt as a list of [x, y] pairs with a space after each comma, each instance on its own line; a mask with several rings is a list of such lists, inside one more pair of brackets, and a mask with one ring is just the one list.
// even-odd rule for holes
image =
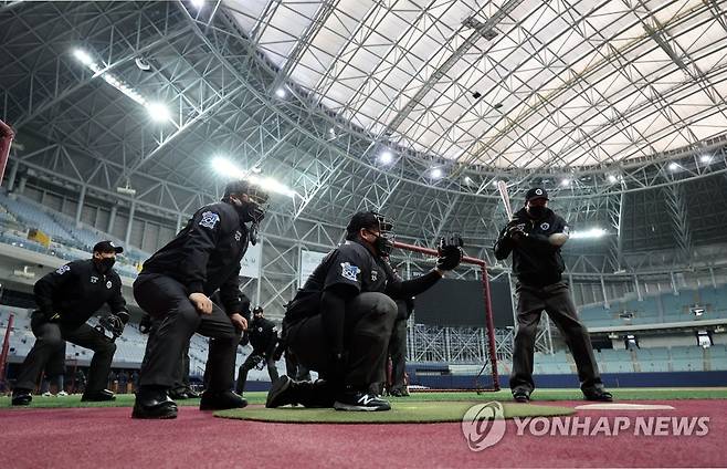
[[[275, 421], [286, 424], [408, 424], [462, 421], [470, 407], [477, 402], [397, 402], [389, 411], [338, 411], [327, 409], [306, 409], [303, 407], [284, 407], [266, 409], [253, 407], [233, 410], [219, 410], [215, 417], [241, 420]], [[550, 417], [571, 415], [570, 407], [537, 406], [527, 404], [503, 403], [505, 418]]]

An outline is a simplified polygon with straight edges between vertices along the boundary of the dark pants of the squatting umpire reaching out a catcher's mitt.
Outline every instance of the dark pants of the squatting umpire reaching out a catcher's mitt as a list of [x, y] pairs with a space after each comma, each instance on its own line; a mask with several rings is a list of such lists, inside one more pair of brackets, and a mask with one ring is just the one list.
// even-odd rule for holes
[[[386, 379], [389, 337], [397, 317], [397, 303], [383, 293], [360, 293], [346, 304], [344, 346], [348, 363], [344, 385], [366, 390]], [[333, 353], [324, 334], [320, 314], [289, 326], [287, 344], [298, 363], [331, 379]]]

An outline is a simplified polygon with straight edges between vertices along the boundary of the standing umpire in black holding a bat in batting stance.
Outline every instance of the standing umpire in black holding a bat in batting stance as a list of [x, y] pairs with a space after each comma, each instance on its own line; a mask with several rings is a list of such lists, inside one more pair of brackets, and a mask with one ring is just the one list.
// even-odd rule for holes
[[568, 241], [568, 234], [566, 220], [548, 208], [548, 192], [531, 188], [526, 194], [525, 207], [514, 215], [495, 242], [497, 259], [513, 253], [513, 273], [517, 277], [517, 333], [510, 389], [519, 403], [529, 402], [535, 389], [533, 354], [544, 310], [570, 347], [584, 398], [612, 400], [603, 388], [588, 330], [578, 317], [568, 282], [561, 278], [565, 263], [560, 248]]

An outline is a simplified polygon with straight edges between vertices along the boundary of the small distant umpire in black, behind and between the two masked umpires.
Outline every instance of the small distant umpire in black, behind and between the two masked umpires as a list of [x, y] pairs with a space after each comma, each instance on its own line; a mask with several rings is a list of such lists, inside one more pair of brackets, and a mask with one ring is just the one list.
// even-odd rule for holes
[[238, 394], [245, 392], [247, 382], [247, 372], [264, 362], [267, 366], [267, 374], [271, 383], [277, 381], [277, 367], [275, 366], [275, 345], [277, 345], [277, 330], [275, 323], [264, 317], [263, 306], [257, 306], [252, 311], [252, 322], [242, 336], [241, 345], [252, 345], [252, 352], [238, 372]]

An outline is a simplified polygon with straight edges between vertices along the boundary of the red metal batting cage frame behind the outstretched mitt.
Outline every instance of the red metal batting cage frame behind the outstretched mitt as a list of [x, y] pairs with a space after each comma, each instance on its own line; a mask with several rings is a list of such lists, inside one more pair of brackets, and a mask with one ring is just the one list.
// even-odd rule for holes
[[[435, 249], [408, 244], [405, 242], [394, 241], [393, 247], [397, 249], [401, 249], [403, 251], [417, 252], [431, 258], [436, 258], [439, 256]], [[462, 258], [461, 263], [476, 265], [480, 268], [481, 281], [483, 286], [483, 298], [485, 303], [484, 313], [485, 313], [485, 327], [487, 329], [486, 336], [487, 336], [487, 355], [488, 355], [485, 358], [485, 362], [483, 363], [480, 373], [475, 377], [473, 388], [462, 389], [462, 390], [476, 390], [478, 394], [482, 392], [497, 392], [501, 389], [501, 387], [499, 387], [499, 373], [497, 372], [497, 346], [495, 341], [495, 320], [493, 317], [493, 308], [491, 301], [492, 296], [489, 291], [489, 278], [487, 277], [487, 262], [484, 259], [477, 259], [477, 258], [464, 256]], [[491, 387], [482, 386], [480, 381], [483, 373], [487, 368], [487, 365], [491, 366], [491, 372], [492, 372], [493, 382]], [[436, 389], [432, 389], [432, 390], [436, 390]], [[454, 390], [454, 389], [446, 389], [446, 390]]]

